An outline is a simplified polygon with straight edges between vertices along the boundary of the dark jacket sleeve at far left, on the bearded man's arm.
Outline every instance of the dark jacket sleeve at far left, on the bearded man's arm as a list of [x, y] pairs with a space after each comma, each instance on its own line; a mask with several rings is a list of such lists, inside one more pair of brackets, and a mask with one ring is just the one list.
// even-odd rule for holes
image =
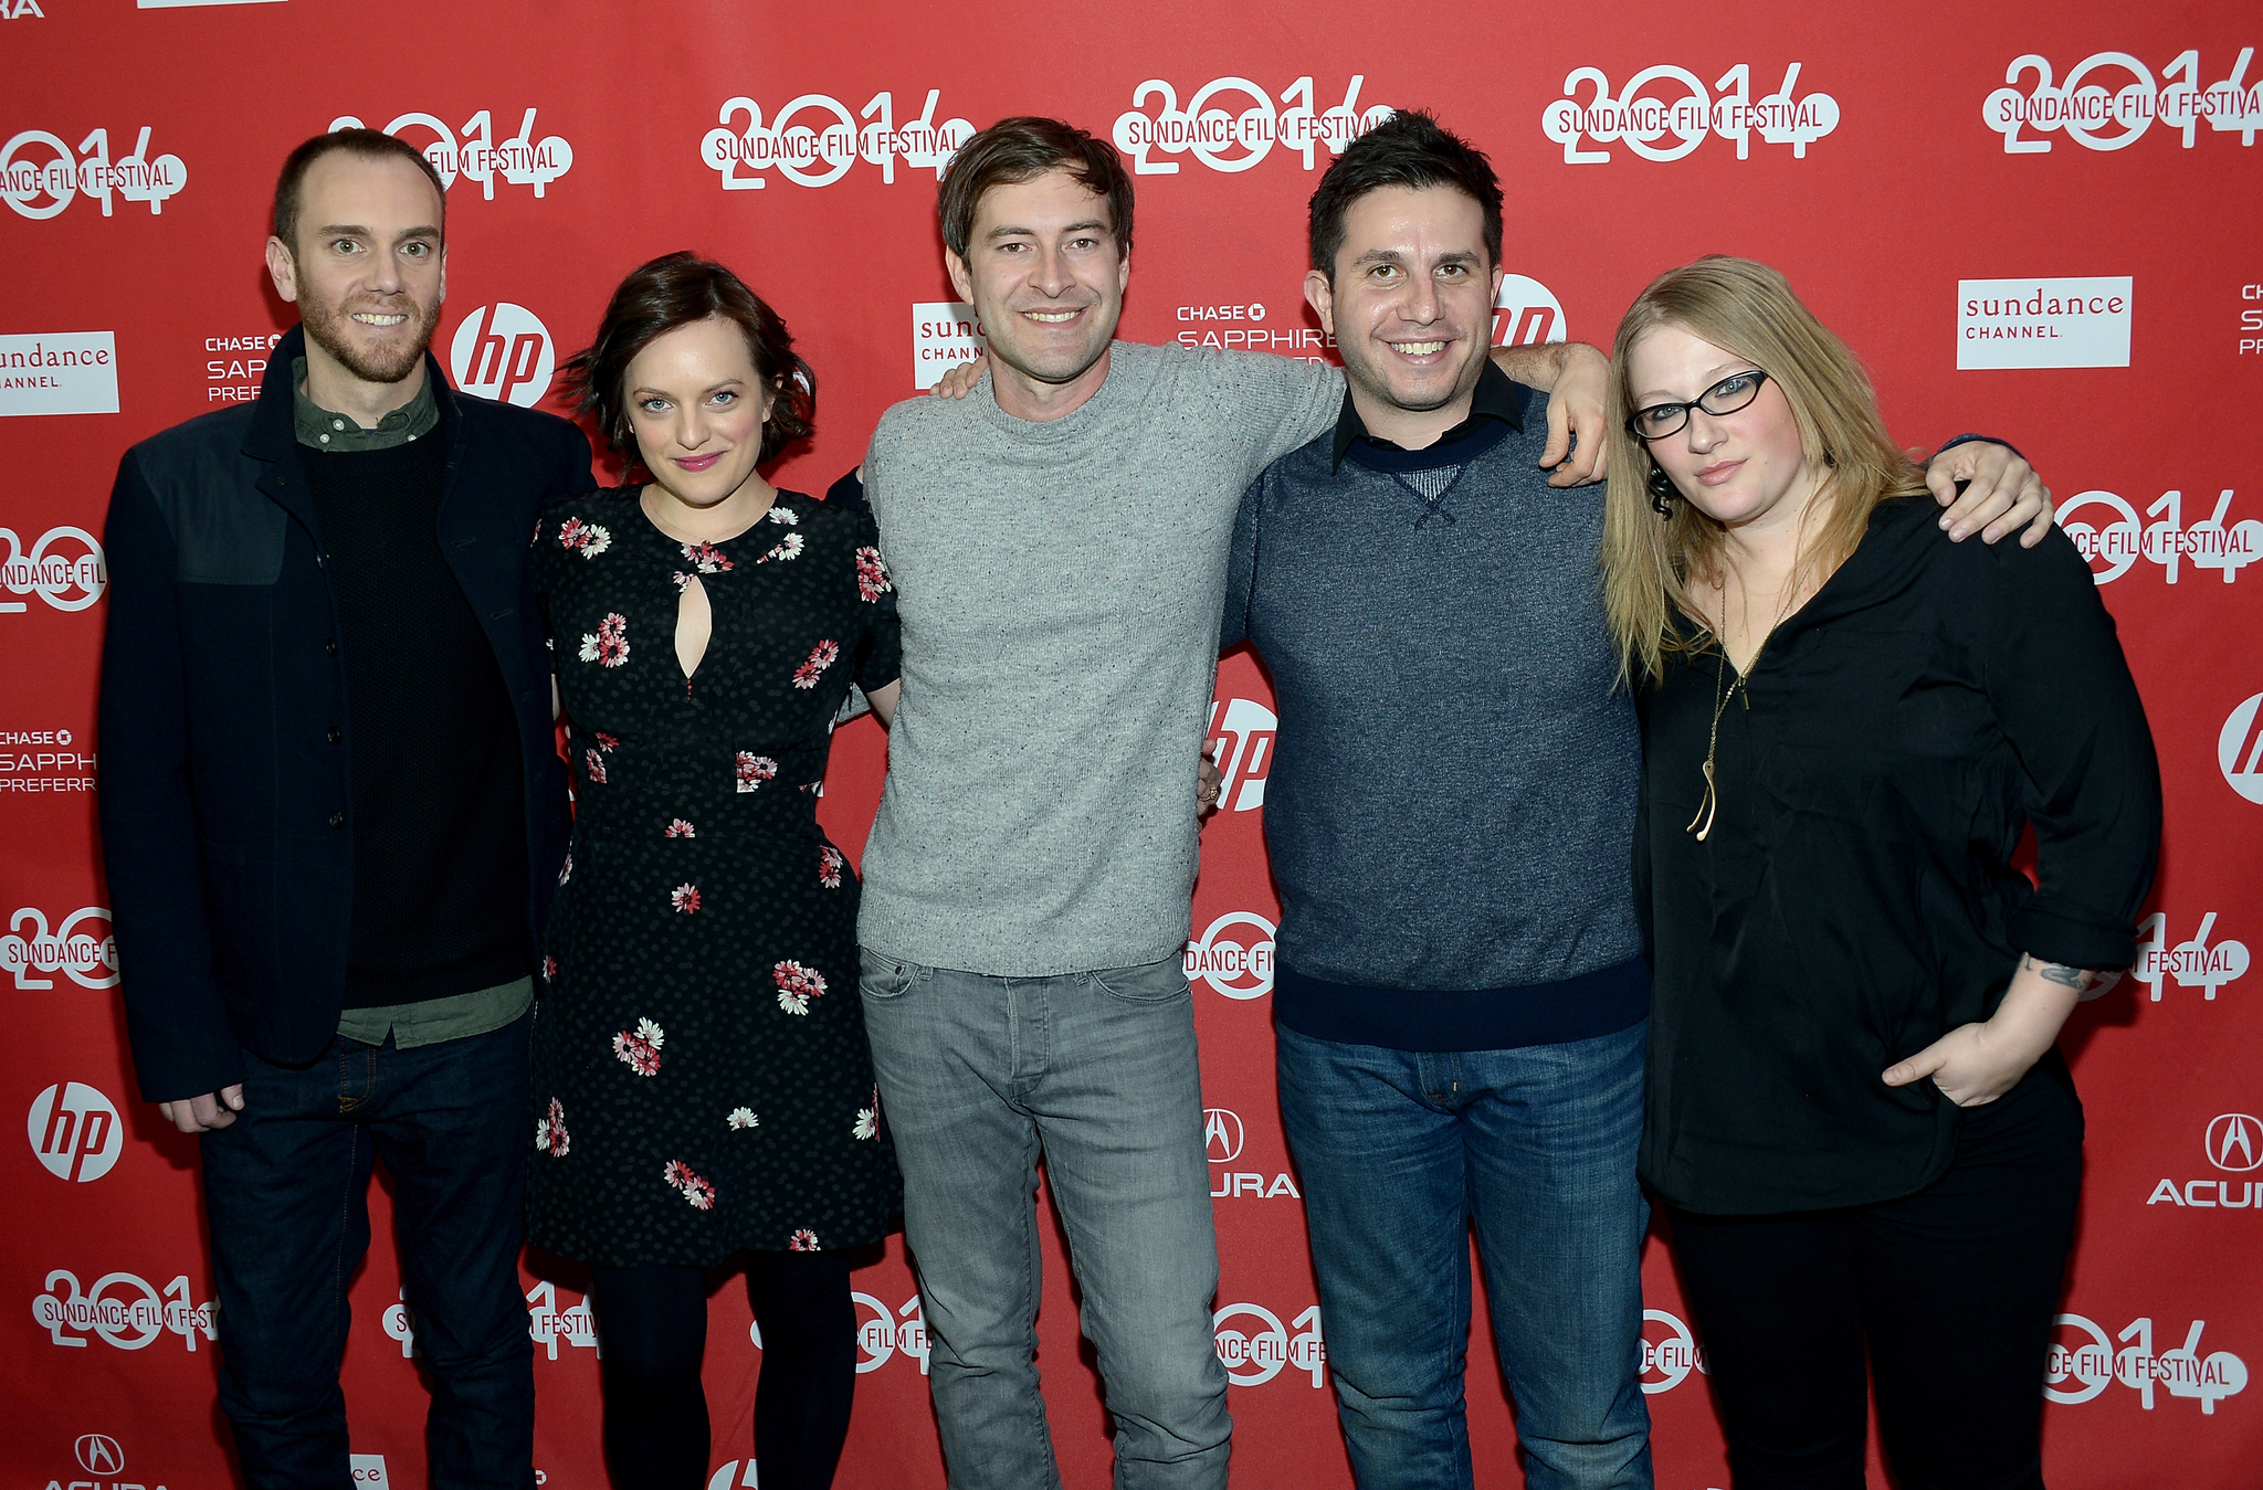
[[95, 724], [102, 864], [140, 1092], [177, 1101], [242, 1081], [244, 1058], [204, 911], [174, 543], [131, 450], [111, 488], [102, 552], [111, 574]]

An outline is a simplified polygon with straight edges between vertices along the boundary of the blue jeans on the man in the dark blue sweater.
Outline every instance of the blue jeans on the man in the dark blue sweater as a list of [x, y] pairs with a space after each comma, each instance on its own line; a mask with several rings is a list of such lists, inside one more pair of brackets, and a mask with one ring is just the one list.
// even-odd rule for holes
[[1647, 1022], [1419, 1054], [1276, 1029], [1319, 1314], [1360, 1490], [1469, 1490], [1469, 1225], [1530, 1490], [1650, 1485], [1634, 1178]]

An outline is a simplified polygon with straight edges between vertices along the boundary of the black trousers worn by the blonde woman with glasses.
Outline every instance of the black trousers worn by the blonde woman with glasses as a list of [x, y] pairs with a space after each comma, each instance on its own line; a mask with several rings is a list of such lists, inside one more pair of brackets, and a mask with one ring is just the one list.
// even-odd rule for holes
[[1736, 1490], [1862, 1490], [1869, 1375], [1901, 1490], [2039, 1490], [2043, 1357], [2082, 1192], [2055, 1056], [1967, 1108], [1899, 1201], [1790, 1216], [1668, 1207]]

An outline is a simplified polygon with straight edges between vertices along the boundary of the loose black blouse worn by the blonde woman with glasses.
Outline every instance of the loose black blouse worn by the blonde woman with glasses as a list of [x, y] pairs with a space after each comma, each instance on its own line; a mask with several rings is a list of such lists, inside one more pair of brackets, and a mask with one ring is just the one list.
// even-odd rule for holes
[[[1985, 1020], [2021, 952], [2127, 968], [2161, 778], [2089, 565], [1948, 543], [1921, 497], [1776, 626], [1720, 710], [1718, 812], [1684, 825], [1720, 651], [1643, 699], [1636, 904], [1652, 947], [1643, 1180], [1713, 1214], [1935, 1180], [1957, 1108], [1881, 1072]], [[2012, 868], [2034, 825], [2039, 884]]]

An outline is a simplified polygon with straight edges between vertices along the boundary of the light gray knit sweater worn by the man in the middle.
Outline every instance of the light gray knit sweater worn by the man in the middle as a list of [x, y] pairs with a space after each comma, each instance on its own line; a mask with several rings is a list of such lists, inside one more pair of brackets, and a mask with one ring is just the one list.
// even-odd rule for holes
[[1118, 341], [1052, 423], [989, 384], [880, 418], [864, 488], [903, 699], [858, 938], [1007, 977], [1186, 945], [1195, 755], [1242, 491], [1335, 423], [1342, 373]]

